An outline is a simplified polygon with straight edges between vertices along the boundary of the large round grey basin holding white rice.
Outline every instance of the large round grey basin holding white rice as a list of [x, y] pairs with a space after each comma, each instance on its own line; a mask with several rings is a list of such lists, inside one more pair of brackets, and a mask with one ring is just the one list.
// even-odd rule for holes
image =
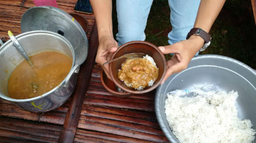
[[[171, 143], [179, 143], [166, 119], [164, 104], [167, 93], [176, 89], [192, 89], [193, 85], [216, 84], [228, 91], [237, 91], [236, 107], [240, 119], [250, 119], [256, 130], [256, 71], [238, 60], [220, 55], [194, 57], [186, 70], [171, 75], [158, 86], [155, 98], [157, 120]], [[254, 140], [255, 142], [256, 140]]]

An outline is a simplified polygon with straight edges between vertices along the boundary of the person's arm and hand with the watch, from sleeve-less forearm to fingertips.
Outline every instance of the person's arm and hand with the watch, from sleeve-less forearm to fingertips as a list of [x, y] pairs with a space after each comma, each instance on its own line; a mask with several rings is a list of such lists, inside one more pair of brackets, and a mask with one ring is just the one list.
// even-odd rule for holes
[[[201, 28], [209, 33], [212, 24], [216, 20], [225, 0], [201, 0], [194, 28]], [[201, 49], [204, 40], [199, 36], [191, 36], [189, 39], [168, 46], [160, 46], [163, 54], [174, 53], [171, 60], [167, 61], [167, 71], [162, 83], [172, 74], [181, 72], [194, 55]], [[162, 84], [161, 83], [161, 84]]]

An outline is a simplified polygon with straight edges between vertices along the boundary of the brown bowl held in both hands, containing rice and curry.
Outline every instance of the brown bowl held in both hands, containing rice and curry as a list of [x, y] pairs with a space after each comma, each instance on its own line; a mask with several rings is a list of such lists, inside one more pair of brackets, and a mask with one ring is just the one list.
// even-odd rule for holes
[[125, 61], [125, 58], [117, 60], [109, 64], [109, 71], [112, 80], [114, 81], [115, 85], [120, 87], [126, 92], [133, 93], [133, 94], [142, 94], [147, 93], [153, 89], [155, 89], [161, 81], [164, 79], [164, 75], [166, 73], [166, 59], [164, 54], [162, 54], [161, 50], [158, 49], [155, 45], [145, 42], [145, 41], [131, 41], [123, 44], [120, 46], [117, 51], [111, 56], [111, 59], [115, 59], [125, 54], [130, 53], [144, 53], [151, 56], [154, 61], [156, 62], [157, 68], [159, 68], [159, 76], [154, 84], [150, 87], [146, 87], [141, 90], [136, 90], [127, 87], [123, 81], [120, 81], [117, 77], [118, 70], [121, 69], [122, 63]]

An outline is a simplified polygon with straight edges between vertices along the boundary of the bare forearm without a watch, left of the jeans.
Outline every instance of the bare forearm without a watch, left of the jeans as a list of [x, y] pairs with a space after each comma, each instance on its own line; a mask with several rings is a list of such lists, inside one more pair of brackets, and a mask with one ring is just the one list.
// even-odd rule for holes
[[112, 0], [90, 0], [97, 21], [98, 35], [113, 36], [112, 32]]

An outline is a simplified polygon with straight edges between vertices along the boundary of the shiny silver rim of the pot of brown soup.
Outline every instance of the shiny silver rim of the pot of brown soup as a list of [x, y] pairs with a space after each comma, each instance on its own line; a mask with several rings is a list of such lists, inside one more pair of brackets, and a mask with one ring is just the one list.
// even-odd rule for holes
[[[16, 37], [17, 40], [19, 40], [20, 38], [23, 38], [23, 37], [27, 37], [27, 36], [30, 36], [30, 34], [47, 34], [47, 35], [51, 35], [51, 36], [55, 36], [55, 37], [58, 37], [59, 39], [62, 39], [69, 47], [70, 47], [70, 50], [72, 52], [72, 67], [69, 71], [69, 73], [71, 72], [72, 68], [75, 66], [75, 52], [74, 52], [74, 49], [72, 47], [72, 45], [70, 44], [70, 42], [64, 37], [64, 36], [61, 36], [60, 34], [57, 34], [57, 33], [54, 33], [54, 32], [51, 32], [51, 31], [43, 31], [43, 30], [38, 30], [38, 31], [29, 31], [29, 32], [25, 32], [25, 33], [22, 33], [22, 34], [19, 34]], [[12, 41], [11, 40], [8, 40], [6, 41], [1, 47], [0, 47], [0, 52], [1, 50], [3, 50], [3, 47], [5, 45], [8, 45], [10, 44]], [[10, 78], [10, 77], [9, 77]], [[67, 78], [67, 76], [66, 76]], [[28, 99], [13, 99], [13, 98], [9, 98], [8, 96], [5, 96], [3, 95], [2, 93], [0, 93], [0, 98], [3, 98], [7, 101], [12, 101], [12, 102], [30, 102], [30, 101], [35, 101], [37, 99], [41, 99], [41, 98], [44, 98], [48, 95], [50, 95], [51, 93], [54, 93], [57, 89], [59, 89], [62, 85], [64, 85], [65, 83], [65, 80], [66, 78], [58, 85], [56, 86], [54, 89], [48, 91], [47, 93], [45, 94], [42, 94], [40, 96], [37, 96], [37, 97], [34, 97], [34, 98], [28, 98]], [[9, 79], [8, 79], [9, 80]], [[8, 93], [8, 92], [7, 92]]]

